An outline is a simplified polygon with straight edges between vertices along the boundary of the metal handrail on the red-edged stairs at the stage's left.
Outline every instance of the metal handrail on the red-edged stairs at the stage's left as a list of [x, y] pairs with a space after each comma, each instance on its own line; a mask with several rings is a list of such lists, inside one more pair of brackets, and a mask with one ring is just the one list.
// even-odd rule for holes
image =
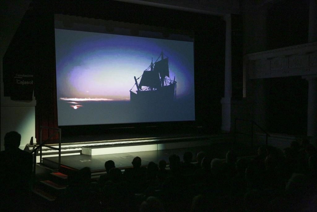
[[[52, 135], [50, 135], [48, 139], [42, 141], [42, 128], [56, 130], [57, 132], [55, 132]], [[51, 138], [53, 138], [57, 133], [59, 135], [58, 136], [58, 140], [59, 140], [58, 148], [45, 145], [45, 143], [48, 140], [50, 140]], [[54, 128], [54, 127], [40, 126], [40, 144], [39, 144], [39, 146], [37, 146], [35, 149], [33, 149], [31, 151], [31, 154], [34, 153], [34, 161], [33, 161], [33, 173], [34, 174], [35, 174], [35, 169], [36, 169], [36, 153], [37, 153], [38, 149], [40, 149], [40, 164], [42, 164], [42, 147], [48, 147], [48, 148], [51, 148], [51, 149], [58, 150], [58, 168], [60, 168], [60, 165], [61, 165], [61, 129], [60, 128]]]

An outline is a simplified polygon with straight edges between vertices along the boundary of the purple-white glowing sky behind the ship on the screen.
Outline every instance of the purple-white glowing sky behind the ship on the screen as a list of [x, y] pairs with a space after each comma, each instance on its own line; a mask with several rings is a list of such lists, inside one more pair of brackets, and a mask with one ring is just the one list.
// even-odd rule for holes
[[130, 99], [133, 77], [161, 51], [178, 96], [194, 92], [192, 42], [55, 29], [55, 48], [58, 98]]

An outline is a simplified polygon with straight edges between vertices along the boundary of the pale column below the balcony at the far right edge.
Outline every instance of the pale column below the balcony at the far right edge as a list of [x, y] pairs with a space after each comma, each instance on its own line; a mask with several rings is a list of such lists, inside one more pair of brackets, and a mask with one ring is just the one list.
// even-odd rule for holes
[[308, 81], [307, 136], [317, 139], [317, 75], [303, 76]]

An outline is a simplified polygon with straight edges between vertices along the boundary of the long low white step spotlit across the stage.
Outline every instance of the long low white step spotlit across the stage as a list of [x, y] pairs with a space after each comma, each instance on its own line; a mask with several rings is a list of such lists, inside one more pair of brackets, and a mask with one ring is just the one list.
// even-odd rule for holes
[[103, 146], [91, 146], [82, 147], [81, 154], [87, 155], [102, 155], [102, 154], [117, 154], [117, 153], [129, 153], [129, 152], [144, 152], [144, 151], [156, 151], [164, 149], [176, 149], [198, 146], [210, 146], [210, 139], [191, 140], [191, 141], [175, 141], [170, 142], [147, 142], [147, 143], [131, 143], [120, 145], [103, 145]]

